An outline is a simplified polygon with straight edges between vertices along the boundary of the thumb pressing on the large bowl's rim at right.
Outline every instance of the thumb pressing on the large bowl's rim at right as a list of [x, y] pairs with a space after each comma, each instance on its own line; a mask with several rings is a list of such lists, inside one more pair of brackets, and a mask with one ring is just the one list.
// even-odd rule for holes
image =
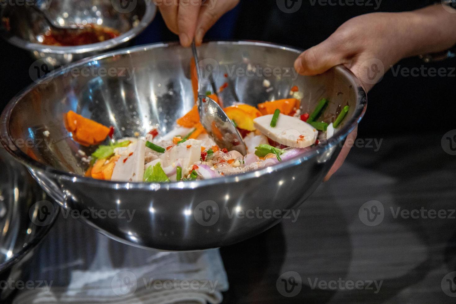
[[326, 72], [338, 64], [347, 62], [347, 55], [341, 52], [331, 38], [303, 52], [295, 61], [295, 70], [301, 75], [311, 76]]

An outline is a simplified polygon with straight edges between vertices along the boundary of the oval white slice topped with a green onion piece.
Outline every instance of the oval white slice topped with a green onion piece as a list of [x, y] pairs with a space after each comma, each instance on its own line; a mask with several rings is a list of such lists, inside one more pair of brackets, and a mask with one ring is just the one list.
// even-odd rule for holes
[[273, 115], [264, 115], [254, 119], [254, 127], [270, 139], [294, 148], [306, 148], [315, 141], [318, 131], [310, 124], [296, 117], [280, 114], [275, 127], [271, 127]]

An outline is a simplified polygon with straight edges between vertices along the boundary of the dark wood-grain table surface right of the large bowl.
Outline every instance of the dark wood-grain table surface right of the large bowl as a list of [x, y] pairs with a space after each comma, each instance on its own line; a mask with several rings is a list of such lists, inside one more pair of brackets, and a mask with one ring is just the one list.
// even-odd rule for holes
[[[223, 303], [455, 303], [447, 295], [456, 296], [455, 273], [447, 274], [456, 271], [456, 156], [442, 136], [377, 138], [378, 151], [363, 139], [295, 210], [297, 221], [221, 248], [230, 283]], [[377, 201], [374, 226], [363, 223], [368, 201]], [[287, 294], [281, 279], [290, 271], [296, 290], [288, 285]]]

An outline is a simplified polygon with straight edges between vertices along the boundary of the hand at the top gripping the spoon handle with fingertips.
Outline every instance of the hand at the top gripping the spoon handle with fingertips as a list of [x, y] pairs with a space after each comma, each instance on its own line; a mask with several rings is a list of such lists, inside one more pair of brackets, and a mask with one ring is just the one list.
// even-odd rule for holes
[[220, 17], [232, 10], [239, 0], [161, 0], [158, 8], [166, 26], [179, 35], [182, 46], [196, 45]]

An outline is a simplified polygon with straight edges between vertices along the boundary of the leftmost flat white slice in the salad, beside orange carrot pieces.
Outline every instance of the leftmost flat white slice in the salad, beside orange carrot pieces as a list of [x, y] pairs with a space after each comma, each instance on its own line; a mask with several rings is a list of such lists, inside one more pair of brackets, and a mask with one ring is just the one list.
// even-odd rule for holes
[[119, 151], [111, 180], [141, 182], [144, 176], [145, 139], [137, 139]]

